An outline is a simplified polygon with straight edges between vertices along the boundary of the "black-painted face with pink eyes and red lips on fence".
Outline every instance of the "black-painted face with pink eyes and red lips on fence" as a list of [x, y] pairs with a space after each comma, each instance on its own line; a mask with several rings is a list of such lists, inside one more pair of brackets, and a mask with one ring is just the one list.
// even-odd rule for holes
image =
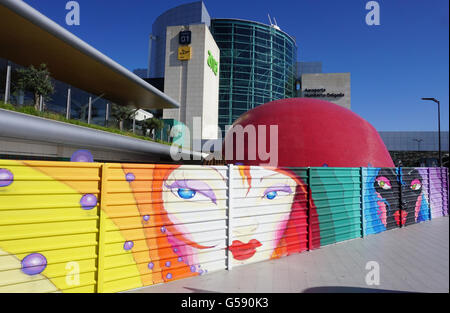
[[416, 169], [402, 169], [402, 173], [397, 173], [395, 169], [382, 168], [374, 187], [380, 199], [378, 216], [387, 229], [417, 222], [422, 202], [422, 177]]

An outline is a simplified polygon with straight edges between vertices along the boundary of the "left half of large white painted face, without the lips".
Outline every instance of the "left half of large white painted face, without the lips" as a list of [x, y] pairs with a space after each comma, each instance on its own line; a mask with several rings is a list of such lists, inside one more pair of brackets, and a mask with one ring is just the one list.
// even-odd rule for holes
[[164, 209], [172, 224], [165, 232], [172, 246], [177, 247], [177, 254], [183, 256], [188, 265], [203, 264], [207, 270], [204, 263], [210, 256], [202, 252], [225, 248], [222, 238], [205, 238], [198, 229], [198, 221], [199, 217], [205, 222], [225, 219], [226, 189], [224, 173], [214, 167], [205, 167], [199, 175], [189, 166], [182, 165], [164, 182]]

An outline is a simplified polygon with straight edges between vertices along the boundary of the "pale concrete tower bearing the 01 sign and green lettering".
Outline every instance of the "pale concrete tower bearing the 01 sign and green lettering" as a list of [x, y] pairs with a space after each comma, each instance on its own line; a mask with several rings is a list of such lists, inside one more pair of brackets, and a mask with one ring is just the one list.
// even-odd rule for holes
[[[192, 32], [192, 58], [178, 60], [178, 34]], [[220, 50], [204, 24], [167, 28], [164, 92], [180, 103], [180, 109], [165, 109], [164, 119], [184, 123], [193, 135], [193, 119], [201, 118], [201, 139], [216, 139], [218, 125], [219, 72], [207, 64], [208, 51], [220, 62]]]

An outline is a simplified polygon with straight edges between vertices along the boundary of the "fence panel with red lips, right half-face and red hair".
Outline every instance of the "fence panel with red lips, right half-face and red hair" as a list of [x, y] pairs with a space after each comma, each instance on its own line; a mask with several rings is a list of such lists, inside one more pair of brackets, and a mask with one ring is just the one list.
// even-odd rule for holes
[[306, 169], [235, 166], [229, 258], [238, 266], [308, 249]]

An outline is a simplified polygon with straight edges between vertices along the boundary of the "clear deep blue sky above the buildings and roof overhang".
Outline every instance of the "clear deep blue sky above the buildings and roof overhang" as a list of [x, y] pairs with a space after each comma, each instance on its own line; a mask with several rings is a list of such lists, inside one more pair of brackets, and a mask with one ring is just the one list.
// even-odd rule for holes
[[[147, 66], [156, 17], [181, 0], [78, 0], [81, 24], [65, 24], [66, 0], [25, 0], [129, 70]], [[299, 61], [322, 61], [324, 72], [350, 72], [352, 110], [377, 130], [449, 129], [449, 2], [388, 0], [379, 26], [368, 26], [366, 0], [205, 0], [211, 17], [268, 23], [297, 40]]]

